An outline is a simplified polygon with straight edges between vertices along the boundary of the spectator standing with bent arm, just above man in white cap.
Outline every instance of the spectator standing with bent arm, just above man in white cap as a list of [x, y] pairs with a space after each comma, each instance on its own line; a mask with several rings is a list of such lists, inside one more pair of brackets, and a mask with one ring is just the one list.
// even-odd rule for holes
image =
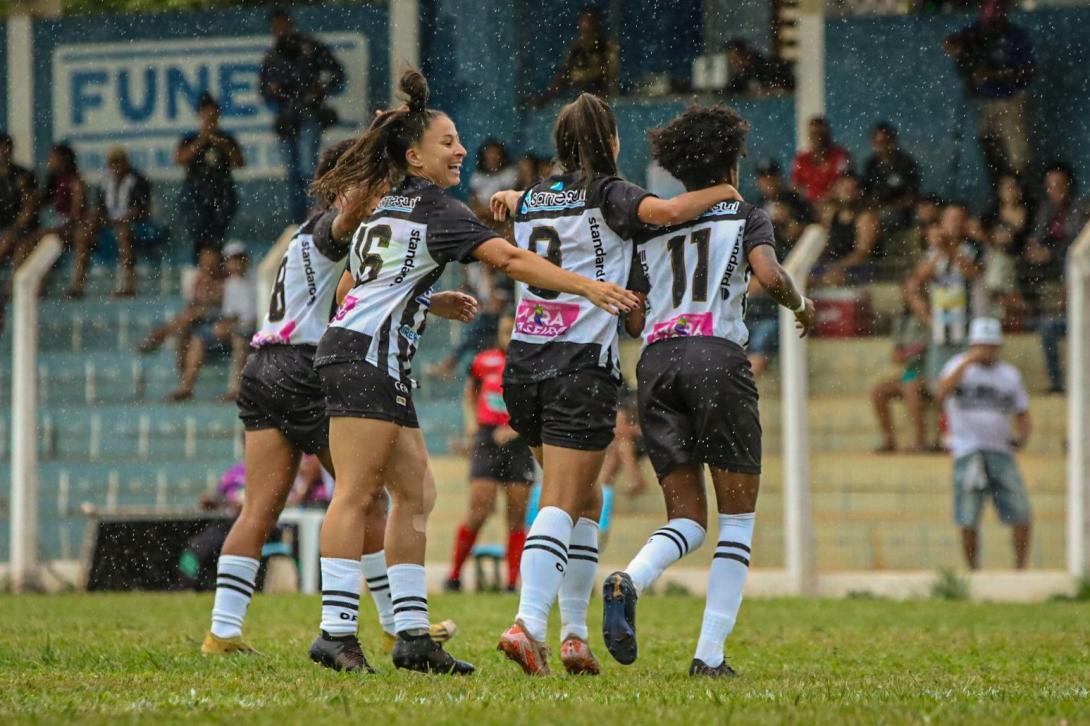
[[909, 306], [928, 326], [928, 382], [934, 385], [946, 362], [965, 350], [969, 320], [981, 308], [979, 280], [982, 251], [966, 239], [965, 204], [943, 207], [937, 225], [928, 228], [929, 250], [905, 287]]

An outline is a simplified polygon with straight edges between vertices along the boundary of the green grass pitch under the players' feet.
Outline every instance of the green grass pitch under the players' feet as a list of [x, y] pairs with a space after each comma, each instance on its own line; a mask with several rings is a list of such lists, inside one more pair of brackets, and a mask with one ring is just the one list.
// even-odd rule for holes
[[[258, 597], [261, 658], [206, 660], [207, 595], [0, 596], [0, 722], [330, 723], [1061, 723], [1090, 719], [1090, 609], [881, 600], [752, 600], [728, 643], [730, 682], [685, 671], [703, 603], [646, 597], [641, 657], [622, 667], [595, 632], [598, 678], [530, 680], [493, 650], [513, 617], [504, 595], [435, 596], [434, 617], [479, 671], [395, 673], [368, 608], [377, 676], [311, 665], [315, 597]], [[556, 631], [552, 633], [556, 637]], [[559, 663], [554, 656], [554, 665]]]

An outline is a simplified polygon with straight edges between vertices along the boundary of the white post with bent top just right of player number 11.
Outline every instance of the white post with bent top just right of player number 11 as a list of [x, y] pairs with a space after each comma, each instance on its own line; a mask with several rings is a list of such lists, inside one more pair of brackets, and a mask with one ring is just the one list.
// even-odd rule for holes
[[[811, 225], [784, 262], [803, 294], [807, 278], [825, 249], [828, 232]], [[810, 501], [810, 432], [807, 422], [807, 341], [795, 330], [795, 315], [779, 308], [779, 371], [784, 428], [784, 565], [791, 589], [816, 594], [818, 577]]]

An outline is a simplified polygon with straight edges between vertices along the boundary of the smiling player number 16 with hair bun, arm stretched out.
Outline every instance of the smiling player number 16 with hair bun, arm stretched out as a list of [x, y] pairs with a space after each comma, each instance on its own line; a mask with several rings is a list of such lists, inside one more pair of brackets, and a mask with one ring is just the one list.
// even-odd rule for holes
[[322, 632], [311, 656], [330, 668], [366, 669], [355, 639], [360, 555], [367, 510], [389, 487], [386, 554], [393, 598], [393, 664], [426, 673], [473, 671], [428, 638], [424, 550], [435, 499], [427, 449], [412, 401], [411, 363], [427, 318], [424, 293], [453, 262], [474, 259], [547, 290], [581, 294], [608, 313], [635, 295], [591, 280], [498, 238], [446, 192], [459, 183], [465, 148], [453, 121], [428, 109], [417, 71], [401, 77], [407, 107], [356, 140], [315, 189], [337, 194], [392, 182], [349, 255], [355, 287], [318, 346], [337, 488], [322, 527]]

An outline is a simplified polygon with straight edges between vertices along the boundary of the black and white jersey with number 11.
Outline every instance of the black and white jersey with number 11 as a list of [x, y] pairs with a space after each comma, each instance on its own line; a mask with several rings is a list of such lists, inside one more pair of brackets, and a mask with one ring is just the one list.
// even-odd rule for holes
[[746, 202], [720, 202], [640, 241], [632, 289], [647, 294], [644, 347], [690, 336], [746, 346], [748, 256], [762, 244], [775, 246], [772, 220]]

